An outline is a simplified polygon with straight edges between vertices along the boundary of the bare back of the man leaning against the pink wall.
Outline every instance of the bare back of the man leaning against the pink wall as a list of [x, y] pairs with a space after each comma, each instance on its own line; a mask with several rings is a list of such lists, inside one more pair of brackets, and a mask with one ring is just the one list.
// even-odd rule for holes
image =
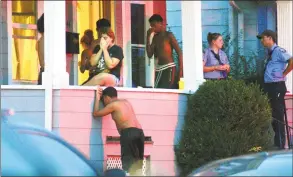
[[110, 103], [110, 105], [114, 108], [111, 115], [119, 133], [121, 130], [131, 127], [141, 129], [141, 125], [136, 119], [132, 105], [127, 100], [117, 99]]

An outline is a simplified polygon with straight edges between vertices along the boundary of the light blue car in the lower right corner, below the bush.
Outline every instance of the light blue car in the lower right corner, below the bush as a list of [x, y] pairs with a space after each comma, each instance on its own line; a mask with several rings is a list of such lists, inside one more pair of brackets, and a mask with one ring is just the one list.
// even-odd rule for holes
[[196, 169], [189, 176], [293, 176], [292, 150], [218, 160]]

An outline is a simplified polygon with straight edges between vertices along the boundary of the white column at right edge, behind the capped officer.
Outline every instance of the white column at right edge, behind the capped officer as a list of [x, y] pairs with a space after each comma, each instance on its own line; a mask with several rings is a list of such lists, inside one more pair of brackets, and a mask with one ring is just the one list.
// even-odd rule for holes
[[[292, 1], [277, 1], [278, 45], [292, 55]], [[287, 76], [287, 89], [292, 94], [293, 73]]]

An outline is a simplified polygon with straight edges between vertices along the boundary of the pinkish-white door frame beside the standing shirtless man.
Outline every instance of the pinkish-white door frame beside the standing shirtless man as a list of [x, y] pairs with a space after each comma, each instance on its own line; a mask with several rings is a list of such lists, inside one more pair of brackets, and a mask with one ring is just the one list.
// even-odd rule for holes
[[[122, 24], [123, 24], [123, 87], [132, 87], [132, 56], [131, 47], [138, 46], [131, 44], [131, 4], [144, 4], [145, 5], [145, 32], [150, 28], [148, 19], [153, 15], [153, 1], [122, 1]], [[145, 47], [145, 45], [139, 45]], [[145, 72], [146, 72], [146, 86], [154, 86], [154, 60], [153, 57], [148, 60], [147, 52], [145, 52]]]

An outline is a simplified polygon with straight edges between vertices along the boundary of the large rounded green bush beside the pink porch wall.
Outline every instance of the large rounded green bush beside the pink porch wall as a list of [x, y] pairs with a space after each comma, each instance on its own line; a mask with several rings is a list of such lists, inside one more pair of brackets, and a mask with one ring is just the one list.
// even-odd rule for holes
[[189, 98], [175, 154], [181, 176], [186, 176], [207, 162], [272, 145], [271, 110], [258, 85], [207, 81]]

